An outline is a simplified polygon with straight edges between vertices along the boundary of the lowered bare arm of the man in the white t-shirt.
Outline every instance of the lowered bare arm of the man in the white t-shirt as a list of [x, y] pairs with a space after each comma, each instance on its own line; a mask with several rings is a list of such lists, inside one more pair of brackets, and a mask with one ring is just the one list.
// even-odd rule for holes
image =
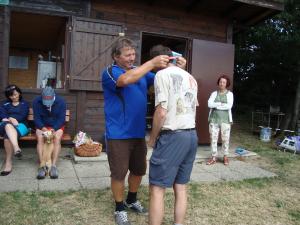
[[155, 141], [159, 135], [159, 132], [166, 120], [166, 115], [167, 115], [167, 110], [161, 107], [161, 105], [158, 105], [154, 112], [152, 130], [148, 142], [148, 145], [150, 147], [154, 146]]

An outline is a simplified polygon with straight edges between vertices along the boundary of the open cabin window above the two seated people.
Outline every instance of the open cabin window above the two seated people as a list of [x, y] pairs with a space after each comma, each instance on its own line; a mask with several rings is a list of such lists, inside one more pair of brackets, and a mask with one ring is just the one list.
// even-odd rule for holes
[[64, 88], [67, 18], [11, 13], [8, 82], [20, 88]]

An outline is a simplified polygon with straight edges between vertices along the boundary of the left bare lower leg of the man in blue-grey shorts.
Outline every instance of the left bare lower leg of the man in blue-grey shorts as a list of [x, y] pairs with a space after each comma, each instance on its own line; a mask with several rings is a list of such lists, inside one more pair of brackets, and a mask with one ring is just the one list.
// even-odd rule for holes
[[150, 185], [149, 224], [160, 225], [164, 217], [165, 188]]

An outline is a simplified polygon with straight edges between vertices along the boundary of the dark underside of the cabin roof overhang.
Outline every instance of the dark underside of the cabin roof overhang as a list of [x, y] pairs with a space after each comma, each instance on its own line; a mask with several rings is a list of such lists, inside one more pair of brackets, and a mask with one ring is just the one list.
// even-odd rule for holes
[[[96, 0], [97, 1], [97, 0]], [[160, 4], [144, 0], [148, 5]], [[167, 2], [171, 2], [167, 0]], [[283, 0], [177, 0], [172, 7], [180, 7], [187, 14], [197, 13], [232, 21], [234, 32], [253, 26], [284, 10]]]

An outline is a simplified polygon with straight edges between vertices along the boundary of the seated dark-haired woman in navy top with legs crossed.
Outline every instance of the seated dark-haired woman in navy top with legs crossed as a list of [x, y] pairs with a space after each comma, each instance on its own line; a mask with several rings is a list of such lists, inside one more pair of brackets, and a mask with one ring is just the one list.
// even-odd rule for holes
[[27, 134], [28, 103], [22, 100], [22, 91], [16, 85], [5, 88], [6, 100], [0, 104], [0, 136], [4, 138], [5, 165], [1, 176], [12, 171], [12, 155], [21, 159], [18, 138]]

